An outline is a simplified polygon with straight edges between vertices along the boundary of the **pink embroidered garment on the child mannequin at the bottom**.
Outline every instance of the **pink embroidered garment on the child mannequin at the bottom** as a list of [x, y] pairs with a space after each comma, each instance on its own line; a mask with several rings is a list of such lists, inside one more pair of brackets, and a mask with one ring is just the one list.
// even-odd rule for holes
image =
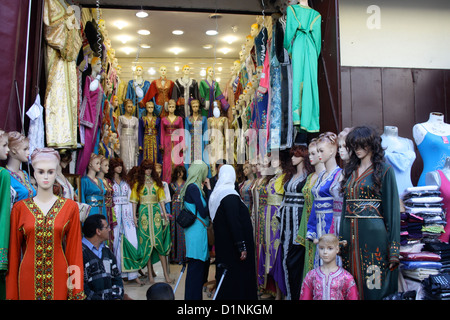
[[300, 300], [358, 300], [358, 289], [353, 276], [338, 267], [328, 276], [316, 268], [303, 281]]

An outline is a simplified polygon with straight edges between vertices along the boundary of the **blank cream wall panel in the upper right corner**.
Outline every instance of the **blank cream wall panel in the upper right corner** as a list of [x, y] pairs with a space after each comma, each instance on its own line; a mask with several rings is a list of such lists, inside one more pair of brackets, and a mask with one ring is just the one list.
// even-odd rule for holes
[[340, 0], [342, 66], [450, 69], [449, 0]]

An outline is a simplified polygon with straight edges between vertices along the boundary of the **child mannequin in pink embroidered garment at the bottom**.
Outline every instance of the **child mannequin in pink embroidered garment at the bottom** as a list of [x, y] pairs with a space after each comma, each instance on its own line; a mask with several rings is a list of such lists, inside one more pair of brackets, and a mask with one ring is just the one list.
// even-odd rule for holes
[[329, 233], [322, 235], [318, 250], [323, 264], [306, 274], [300, 300], [359, 300], [353, 276], [336, 264], [338, 238]]

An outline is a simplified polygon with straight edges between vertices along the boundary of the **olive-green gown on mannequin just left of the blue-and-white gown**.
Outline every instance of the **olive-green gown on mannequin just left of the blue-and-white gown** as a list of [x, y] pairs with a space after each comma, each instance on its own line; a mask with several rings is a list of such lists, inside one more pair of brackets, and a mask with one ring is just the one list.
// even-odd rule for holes
[[312, 188], [317, 181], [317, 177], [314, 177], [316, 177], [316, 175], [314, 173], [311, 173], [308, 178], [306, 178], [305, 185], [302, 189], [302, 194], [305, 201], [303, 204], [303, 212], [300, 219], [297, 238], [295, 239], [296, 242], [305, 247], [305, 262], [303, 265], [302, 280], [310, 270], [314, 269], [314, 257], [316, 254], [316, 245], [312, 241], [306, 239], [307, 225], [314, 202]]

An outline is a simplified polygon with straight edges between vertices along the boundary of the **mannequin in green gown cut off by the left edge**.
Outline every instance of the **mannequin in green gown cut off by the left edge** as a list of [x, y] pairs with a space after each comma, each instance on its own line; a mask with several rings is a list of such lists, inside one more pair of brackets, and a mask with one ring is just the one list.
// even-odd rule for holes
[[[0, 161], [8, 159], [8, 134], [0, 130]], [[0, 300], [5, 300], [5, 274], [8, 271], [10, 214], [12, 206], [11, 177], [0, 167]]]

